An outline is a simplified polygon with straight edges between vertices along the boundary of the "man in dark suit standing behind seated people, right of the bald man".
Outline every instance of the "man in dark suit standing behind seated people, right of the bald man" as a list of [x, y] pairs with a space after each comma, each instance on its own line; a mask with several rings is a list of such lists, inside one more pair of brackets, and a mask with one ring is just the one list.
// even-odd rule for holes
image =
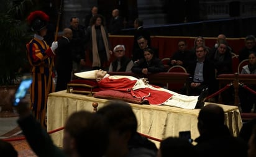
[[137, 43], [137, 39], [142, 36], [147, 40], [147, 45], [149, 47], [151, 46], [151, 38], [150, 38], [150, 32], [144, 29], [143, 27], [143, 20], [142, 19], [135, 19], [134, 20], [134, 48], [133, 52], [135, 52], [137, 49], [139, 49], [139, 45]]

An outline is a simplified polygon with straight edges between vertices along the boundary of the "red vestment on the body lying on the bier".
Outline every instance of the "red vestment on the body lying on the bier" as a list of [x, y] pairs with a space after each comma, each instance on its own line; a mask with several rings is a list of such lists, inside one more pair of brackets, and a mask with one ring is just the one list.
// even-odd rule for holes
[[[128, 78], [111, 79], [104, 78], [98, 82], [101, 90], [116, 90], [121, 92], [130, 92], [132, 96], [138, 97], [144, 101], [149, 101], [150, 105], [162, 105], [173, 96], [165, 91], [158, 91], [150, 89], [150, 87], [133, 90], [137, 80], [130, 80]], [[154, 86], [155, 87], [155, 86]]]

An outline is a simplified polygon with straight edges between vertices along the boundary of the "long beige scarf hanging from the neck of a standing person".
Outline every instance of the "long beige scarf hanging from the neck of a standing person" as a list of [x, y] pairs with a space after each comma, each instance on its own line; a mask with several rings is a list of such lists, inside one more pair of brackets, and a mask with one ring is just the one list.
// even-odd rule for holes
[[[109, 55], [109, 43], [107, 40], [107, 35], [106, 31], [101, 25], [101, 35], [103, 37], [103, 42], [104, 42], [104, 47], [107, 53], [107, 61], [109, 61], [110, 55]], [[99, 58], [99, 53], [98, 53], [98, 45], [97, 45], [97, 39], [96, 39], [96, 30], [95, 30], [95, 25], [91, 26], [91, 36], [92, 36], [92, 45], [93, 45], [93, 65], [92, 66], [101, 66], [101, 59]]]

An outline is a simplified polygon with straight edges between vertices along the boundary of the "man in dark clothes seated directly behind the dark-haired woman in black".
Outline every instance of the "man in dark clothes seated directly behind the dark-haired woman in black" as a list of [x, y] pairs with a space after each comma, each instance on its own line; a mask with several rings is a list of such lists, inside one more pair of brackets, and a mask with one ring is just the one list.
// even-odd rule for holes
[[137, 48], [134, 52], [132, 52], [132, 60], [134, 62], [139, 61], [140, 59], [144, 58], [144, 50], [146, 48], [150, 48], [153, 50], [155, 57], [158, 58], [158, 50], [157, 48], [153, 48], [149, 46], [149, 41], [144, 36], [139, 36], [136, 40], [137, 45], [139, 48]]

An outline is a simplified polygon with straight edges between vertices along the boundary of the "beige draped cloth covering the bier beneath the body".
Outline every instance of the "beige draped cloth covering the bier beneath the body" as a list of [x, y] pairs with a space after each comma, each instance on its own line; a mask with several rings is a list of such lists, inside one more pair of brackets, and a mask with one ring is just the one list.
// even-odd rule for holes
[[[48, 96], [47, 131], [55, 130], [65, 125], [66, 119], [73, 112], [88, 110], [93, 112], [92, 104], [98, 102], [101, 109], [107, 99], [98, 99], [83, 94], [72, 94], [65, 91], [52, 92]], [[170, 105], [138, 105], [129, 103], [137, 118], [137, 131], [151, 137], [164, 139], [178, 137], [180, 131], [191, 131], [191, 138], [199, 137], [198, 114], [200, 109], [181, 109]], [[210, 104], [206, 102], [206, 105]], [[221, 105], [221, 104], [217, 104]], [[225, 124], [235, 137], [242, 127], [242, 120], [237, 106], [221, 105], [225, 112]], [[63, 130], [51, 134], [53, 142], [62, 147]]]

